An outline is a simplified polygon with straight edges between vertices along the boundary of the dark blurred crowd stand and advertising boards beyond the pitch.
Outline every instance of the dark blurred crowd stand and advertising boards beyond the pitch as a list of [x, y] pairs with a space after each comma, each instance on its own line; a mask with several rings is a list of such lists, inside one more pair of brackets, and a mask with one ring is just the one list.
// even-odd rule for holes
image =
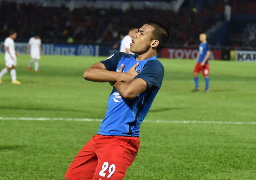
[[120, 33], [154, 20], [170, 31], [168, 48], [160, 57], [195, 59], [199, 33], [205, 32], [212, 59], [244, 60], [243, 52], [236, 57], [234, 50], [255, 49], [255, 7], [253, 0], [2, 0], [0, 40], [15, 28], [20, 53], [22, 42], [38, 32], [45, 54], [107, 56], [119, 50], [112, 45]]

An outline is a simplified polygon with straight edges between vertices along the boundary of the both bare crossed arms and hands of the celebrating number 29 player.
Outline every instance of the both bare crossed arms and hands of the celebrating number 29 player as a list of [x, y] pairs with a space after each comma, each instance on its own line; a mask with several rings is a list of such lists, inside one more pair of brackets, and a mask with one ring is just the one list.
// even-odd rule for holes
[[148, 88], [148, 84], [142, 78], [136, 78], [138, 73], [135, 68], [136, 63], [129, 71], [122, 72], [124, 65], [121, 65], [119, 72], [108, 71], [101, 62], [97, 62], [89, 67], [83, 74], [83, 78], [94, 82], [109, 82], [111, 86], [115, 87], [119, 94], [126, 99], [134, 99], [138, 94], [142, 93]]

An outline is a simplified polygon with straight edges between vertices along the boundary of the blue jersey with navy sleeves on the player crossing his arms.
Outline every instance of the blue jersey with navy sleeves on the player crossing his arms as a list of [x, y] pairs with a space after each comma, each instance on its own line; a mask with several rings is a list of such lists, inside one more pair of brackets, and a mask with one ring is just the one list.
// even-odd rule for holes
[[134, 99], [123, 98], [113, 87], [108, 98], [105, 118], [102, 120], [98, 134], [107, 136], [139, 136], [140, 124], [147, 115], [149, 108], [157, 95], [164, 77], [164, 67], [157, 57], [136, 61], [136, 56], [126, 53], [116, 53], [105, 61], [101, 61], [107, 70], [119, 71], [124, 64], [123, 72], [139, 62], [135, 68], [138, 75], [148, 84], [148, 89]]

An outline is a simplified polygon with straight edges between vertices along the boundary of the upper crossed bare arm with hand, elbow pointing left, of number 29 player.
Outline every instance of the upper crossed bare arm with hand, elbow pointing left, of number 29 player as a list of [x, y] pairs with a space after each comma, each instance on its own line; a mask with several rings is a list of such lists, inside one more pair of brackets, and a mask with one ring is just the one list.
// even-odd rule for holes
[[135, 68], [138, 66], [136, 63], [128, 72], [115, 72], [108, 71], [102, 62], [97, 62], [89, 67], [83, 74], [83, 78], [88, 81], [94, 82], [130, 82], [137, 75]]

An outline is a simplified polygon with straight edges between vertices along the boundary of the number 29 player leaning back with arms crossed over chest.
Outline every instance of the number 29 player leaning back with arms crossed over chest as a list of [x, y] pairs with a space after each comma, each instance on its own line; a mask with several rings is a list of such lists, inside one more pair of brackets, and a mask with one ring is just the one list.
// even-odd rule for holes
[[122, 180], [139, 149], [140, 124], [147, 115], [164, 77], [158, 53], [168, 42], [167, 29], [146, 22], [134, 34], [130, 50], [116, 53], [89, 67], [83, 77], [109, 82], [113, 90], [97, 135], [81, 149], [65, 180]]

